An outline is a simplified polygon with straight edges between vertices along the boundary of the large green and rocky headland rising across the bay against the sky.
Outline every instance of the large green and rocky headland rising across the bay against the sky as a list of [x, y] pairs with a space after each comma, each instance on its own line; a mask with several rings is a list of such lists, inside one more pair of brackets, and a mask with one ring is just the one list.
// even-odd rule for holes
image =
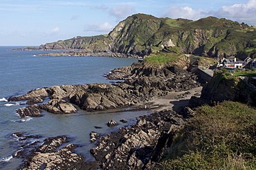
[[185, 54], [235, 56], [256, 49], [255, 27], [227, 19], [156, 18], [134, 14], [116, 25], [107, 37], [91, 36], [41, 45], [40, 49], [82, 49], [85, 52], [114, 52], [149, 55], [175, 45]]

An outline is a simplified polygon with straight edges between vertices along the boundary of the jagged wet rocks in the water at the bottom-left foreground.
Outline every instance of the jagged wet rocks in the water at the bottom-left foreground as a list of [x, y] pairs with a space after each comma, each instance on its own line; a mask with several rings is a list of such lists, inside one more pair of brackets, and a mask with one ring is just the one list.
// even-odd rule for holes
[[74, 153], [77, 145], [69, 144], [60, 150], [64, 142], [68, 142], [66, 136], [47, 138], [44, 143], [33, 151], [24, 162], [21, 169], [80, 169], [84, 156]]

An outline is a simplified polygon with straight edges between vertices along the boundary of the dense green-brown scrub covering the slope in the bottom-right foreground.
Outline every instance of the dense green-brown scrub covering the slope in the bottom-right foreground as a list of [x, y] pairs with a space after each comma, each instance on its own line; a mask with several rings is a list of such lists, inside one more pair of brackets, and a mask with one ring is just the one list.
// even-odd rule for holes
[[256, 110], [226, 101], [196, 109], [161, 169], [256, 169]]

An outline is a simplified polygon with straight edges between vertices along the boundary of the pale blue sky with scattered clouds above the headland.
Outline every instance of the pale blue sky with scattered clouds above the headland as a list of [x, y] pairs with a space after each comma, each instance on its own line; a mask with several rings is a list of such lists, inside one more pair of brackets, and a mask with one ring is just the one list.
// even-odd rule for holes
[[0, 45], [39, 46], [108, 34], [132, 14], [226, 18], [256, 25], [256, 0], [0, 0]]

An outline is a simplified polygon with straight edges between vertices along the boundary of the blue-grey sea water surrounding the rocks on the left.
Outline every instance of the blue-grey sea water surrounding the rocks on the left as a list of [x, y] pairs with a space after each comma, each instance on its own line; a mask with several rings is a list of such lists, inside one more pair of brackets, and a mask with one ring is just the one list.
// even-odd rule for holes
[[[44, 51], [11, 51], [18, 47], [0, 47], [0, 169], [17, 169], [22, 159], [15, 153], [31, 142], [41, 143], [45, 138], [69, 136], [71, 143], [80, 145], [75, 151], [82, 153], [86, 161], [94, 160], [89, 149], [91, 131], [108, 134], [125, 125], [136, 122], [136, 117], [152, 111], [103, 111], [91, 113], [78, 108], [75, 114], [55, 115], [43, 111], [40, 118], [19, 118], [16, 110], [26, 105], [8, 102], [10, 96], [26, 94], [31, 89], [53, 85], [80, 85], [110, 83], [104, 74], [116, 67], [131, 65], [138, 59], [114, 59], [102, 56], [35, 56]], [[115, 110], [116, 111], [116, 110]], [[116, 120], [117, 127], [107, 127], [109, 120]], [[129, 120], [121, 123], [119, 120]], [[102, 127], [95, 129], [94, 126]], [[40, 136], [37, 139], [19, 141], [12, 134]], [[67, 144], [66, 144], [67, 145]]]

